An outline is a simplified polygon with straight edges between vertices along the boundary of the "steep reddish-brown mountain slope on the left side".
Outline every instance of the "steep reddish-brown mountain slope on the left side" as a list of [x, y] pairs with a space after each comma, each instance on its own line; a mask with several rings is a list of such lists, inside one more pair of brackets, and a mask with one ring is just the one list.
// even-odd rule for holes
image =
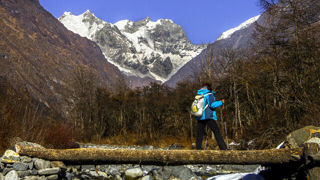
[[47, 106], [58, 103], [79, 64], [107, 83], [121, 75], [95, 42], [67, 30], [38, 0], [0, 0], [0, 24], [1, 79], [26, 88]]

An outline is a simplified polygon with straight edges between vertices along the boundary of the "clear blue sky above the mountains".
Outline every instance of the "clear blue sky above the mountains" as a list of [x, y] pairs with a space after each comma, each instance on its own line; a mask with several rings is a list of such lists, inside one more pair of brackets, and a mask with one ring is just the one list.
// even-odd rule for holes
[[261, 13], [257, 0], [39, 0], [54, 17], [86, 9], [104, 21], [171, 19], [194, 44], [213, 42], [220, 33]]

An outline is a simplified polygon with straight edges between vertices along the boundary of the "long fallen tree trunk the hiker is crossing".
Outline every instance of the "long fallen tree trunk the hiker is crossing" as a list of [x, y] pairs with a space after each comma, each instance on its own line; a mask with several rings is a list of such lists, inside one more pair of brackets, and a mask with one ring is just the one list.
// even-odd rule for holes
[[66, 164], [279, 164], [297, 162], [302, 148], [266, 150], [132, 150], [132, 149], [46, 149], [15, 145], [19, 155], [38, 157]]

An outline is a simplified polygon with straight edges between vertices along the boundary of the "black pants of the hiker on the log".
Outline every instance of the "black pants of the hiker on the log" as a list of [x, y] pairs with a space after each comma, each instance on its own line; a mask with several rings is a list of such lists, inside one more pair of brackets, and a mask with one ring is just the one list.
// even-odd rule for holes
[[221, 136], [220, 130], [219, 130], [215, 120], [203, 119], [203, 120], [197, 120], [197, 121], [198, 121], [198, 128], [197, 128], [197, 132], [196, 132], [195, 148], [197, 150], [202, 149], [201, 144], [202, 144], [203, 132], [204, 132], [205, 124], [207, 124], [214, 133], [214, 137], [216, 139], [216, 142], [219, 145], [219, 149], [226, 150], [225, 142]]

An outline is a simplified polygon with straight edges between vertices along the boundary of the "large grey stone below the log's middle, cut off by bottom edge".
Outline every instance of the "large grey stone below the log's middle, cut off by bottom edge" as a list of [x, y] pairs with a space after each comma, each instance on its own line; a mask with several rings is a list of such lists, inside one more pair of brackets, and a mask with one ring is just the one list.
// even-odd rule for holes
[[155, 179], [199, 179], [199, 177], [192, 172], [191, 169], [185, 167], [184, 165], [179, 165], [163, 167], [163, 177], [162, 168], [159, 168], [157, 170]]

